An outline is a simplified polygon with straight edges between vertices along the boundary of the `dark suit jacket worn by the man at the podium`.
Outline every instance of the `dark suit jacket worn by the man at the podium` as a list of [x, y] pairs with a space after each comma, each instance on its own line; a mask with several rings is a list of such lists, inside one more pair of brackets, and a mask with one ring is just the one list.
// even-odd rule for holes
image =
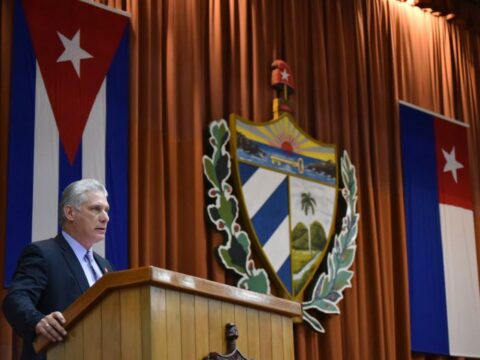
[[[113, 270], [108, 260], [94, 257], [102, 272]], [[33, 350], [35, 325], [45, 315], [65, 310], [88, 288], [82, 265], [61, 234], [25, 247], [3, 302], [5, 317], [23, 338], [22, 360], [45, 359]]]

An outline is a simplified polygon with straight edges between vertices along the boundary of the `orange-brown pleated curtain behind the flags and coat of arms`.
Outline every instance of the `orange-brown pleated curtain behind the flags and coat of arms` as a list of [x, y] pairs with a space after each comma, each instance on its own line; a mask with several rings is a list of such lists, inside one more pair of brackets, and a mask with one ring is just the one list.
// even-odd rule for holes
[[[342, 313], [319, 317], [325, 334], [295, 325], [296, 358], [424, 358], [409, 345], [397, 99], [470, 124], [480, 234], [480, 35], [387, 0], [103, 2], [132, 14], [131, 266], [155, 265], [234, 284], [214, 255], [222, 234], [205, 217], [207, 126], [230, 113], [271, 118], [269, 66], [281, 58], [294, 73], [299, 124], [350, 154], [361, 214], [353, 288], [345, 291]], [[12, 4], [4, 0], [0, 8], [0, 234]], [[0, 317], [0, 358], [17, 359], [17, 342]]]

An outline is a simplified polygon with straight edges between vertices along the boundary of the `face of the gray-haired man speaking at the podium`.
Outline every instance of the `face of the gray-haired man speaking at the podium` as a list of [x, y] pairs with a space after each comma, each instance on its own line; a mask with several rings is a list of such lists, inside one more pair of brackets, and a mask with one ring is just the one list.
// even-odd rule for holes
[[72, 206], [65, 207], [69, 220], [67, 232], [71, 232], [70, 235], [86, 248], [91, 247], [105, 239], [109, 209], [107, 198], [102, 192], [87, 192], [80, 209]]

